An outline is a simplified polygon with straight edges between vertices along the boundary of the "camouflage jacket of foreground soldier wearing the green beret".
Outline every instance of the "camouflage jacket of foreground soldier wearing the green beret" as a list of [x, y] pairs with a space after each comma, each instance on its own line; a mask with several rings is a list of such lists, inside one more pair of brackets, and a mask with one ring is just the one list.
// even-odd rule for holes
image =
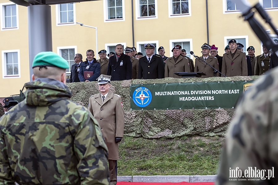
[[26, 99], [0, 119], [0, 185], [108, 185], [108, 150], [92, 114], [57, 80], [25, 87]]

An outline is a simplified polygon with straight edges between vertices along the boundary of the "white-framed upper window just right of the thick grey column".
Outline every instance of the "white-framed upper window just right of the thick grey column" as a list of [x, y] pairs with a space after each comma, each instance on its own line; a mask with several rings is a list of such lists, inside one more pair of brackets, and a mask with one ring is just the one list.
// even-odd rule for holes
[[56, 5], [57, 24], [75, 24], [75, 3]]

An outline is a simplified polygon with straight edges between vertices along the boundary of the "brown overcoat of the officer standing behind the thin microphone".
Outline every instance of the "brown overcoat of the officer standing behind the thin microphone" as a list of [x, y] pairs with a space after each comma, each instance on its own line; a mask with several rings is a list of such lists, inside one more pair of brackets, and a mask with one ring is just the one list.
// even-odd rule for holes
[[[203, 56], [201, 56], [200, 58], [204, 59]], [[212, 67], [219, 70], [218, 61], [217, 61], [216, 57], [208, 56], [208, 59], [206, 60], [206, 63], [208, 63]], [[194, 72], [203, 72], [204, 74], [206, 74], [204, 76], [201, 76], [200, 78], [213, 77], [214, 76], [214, 73], [213, 73], [214, 69], [211, 68], [208, 64], [205, 64], [200, 59], [195, 59]], [[219, 72], [217, 73], [217, 76], [219, 76]]]

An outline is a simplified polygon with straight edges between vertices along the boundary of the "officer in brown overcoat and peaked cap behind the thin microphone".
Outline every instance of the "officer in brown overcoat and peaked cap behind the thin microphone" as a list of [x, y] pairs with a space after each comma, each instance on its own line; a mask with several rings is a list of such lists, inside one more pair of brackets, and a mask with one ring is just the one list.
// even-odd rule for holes
[[[218, 62], [217, 62], [217, 58], [215, 56], [210, 56], [209, 55], [209, 51], [210, 51], [210, 45], [208, 45], [207, 43], [204, 43], [202, 48], [202, 56], [201, 58], [208, 63], [209, 65], [211, 65], [212, 67], [214, 67], [215, 69], [219, 70], [218, 67]], [[207, 77], [213, 77], [214, 76], [214, 69], [212, 67], [210, 67], [208, 64], [204, 63], [204, 61], [200, 60], [200, 59], [195, 59], [195, 67], [194, 67], [194, 71], [195, 72], [203, 72], [204, 76], [201, 76], [200, 78], [207, 78]], [[217, 76], [219, 76], [219, 72], [217, 72], [216, 74]]]

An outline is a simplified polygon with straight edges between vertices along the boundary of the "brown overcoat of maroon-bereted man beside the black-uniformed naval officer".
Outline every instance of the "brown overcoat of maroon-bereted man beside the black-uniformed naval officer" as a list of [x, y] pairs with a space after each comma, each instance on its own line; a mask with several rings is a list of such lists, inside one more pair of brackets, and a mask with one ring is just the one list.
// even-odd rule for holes
[[179, 55], [177, 62], [175, 63], [174, 57], [166, 59], [165, 63], [165, 78], [180, 78], [181, 76], [175, 75], [174, 72], [191, 72], [190, 63], [187, 58]]

